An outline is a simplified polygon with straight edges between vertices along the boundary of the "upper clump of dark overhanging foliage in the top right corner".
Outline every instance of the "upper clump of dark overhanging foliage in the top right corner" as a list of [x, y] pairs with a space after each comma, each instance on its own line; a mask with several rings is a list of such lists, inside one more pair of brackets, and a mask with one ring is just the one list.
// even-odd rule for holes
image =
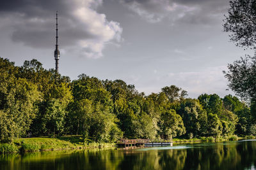
[[232, 32], [230, 40], [237, 46], [256, 49], [256, 1], [232, 0], [223, 25], [225, 32]]

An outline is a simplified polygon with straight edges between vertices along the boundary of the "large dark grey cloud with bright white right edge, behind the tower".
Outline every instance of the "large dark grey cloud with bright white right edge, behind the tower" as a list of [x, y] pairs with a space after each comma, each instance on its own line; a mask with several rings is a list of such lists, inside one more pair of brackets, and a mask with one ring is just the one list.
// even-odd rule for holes
[[85, 55], [97, 58], [102, 56], [106, 42], [120, 41], [122, 34], [117, 22], [109, 22], [106, 15], [97, 13], [101, 4], [100, 0], [4, 1], [0, 5], [0, 26], [6, 24], [8, 18], [13, 41], [36, 48], [51, 48], [58, 10], [61, 46], [75, 46], [82, 52], [87, 50]]

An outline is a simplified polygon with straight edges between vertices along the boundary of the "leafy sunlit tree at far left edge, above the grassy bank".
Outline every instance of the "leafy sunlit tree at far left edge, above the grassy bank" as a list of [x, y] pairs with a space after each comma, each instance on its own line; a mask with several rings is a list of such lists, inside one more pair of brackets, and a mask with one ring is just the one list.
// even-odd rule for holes
[[10, 142], [14, 137], [26, 136], [38, 109], [35, 103], [40, 102], [40, 92], [36, 85], [23, 78], [1, 80], [0, 94], [0, 141]]

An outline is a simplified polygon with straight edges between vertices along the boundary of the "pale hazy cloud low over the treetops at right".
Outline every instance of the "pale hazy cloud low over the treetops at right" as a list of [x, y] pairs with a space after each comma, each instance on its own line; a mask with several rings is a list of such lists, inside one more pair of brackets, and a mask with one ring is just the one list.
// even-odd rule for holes
[[218, 94], [224, 97], [227, 94], [234, 94], [226, 89], [228, 81], [225, 79], [223, 70], [227, 66], [207, 67], [201, 71], [188, 71], [179, 73], [168, 73], [165, 76], [152, 76], [147, 84], [140, 84], [138, 90], [150, 94], [159, 92], [164, 86], [176, 85], [188, 91], [188, 97], [197, 98], [200, 94]]

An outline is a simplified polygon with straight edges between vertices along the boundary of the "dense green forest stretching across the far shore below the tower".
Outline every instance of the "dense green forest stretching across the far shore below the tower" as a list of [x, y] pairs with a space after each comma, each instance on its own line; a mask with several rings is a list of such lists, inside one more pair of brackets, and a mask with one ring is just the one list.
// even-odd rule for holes
[[71, 81], [35, 59], [19, 67], [0, 58], [0, 96], [3, 143], [63, 134], [99, 143], [256, 134], [254, 105], [235, 96], [202, 94], [191, 99], [175, 85], [146, 96], [122, 80], [80, 74]]

